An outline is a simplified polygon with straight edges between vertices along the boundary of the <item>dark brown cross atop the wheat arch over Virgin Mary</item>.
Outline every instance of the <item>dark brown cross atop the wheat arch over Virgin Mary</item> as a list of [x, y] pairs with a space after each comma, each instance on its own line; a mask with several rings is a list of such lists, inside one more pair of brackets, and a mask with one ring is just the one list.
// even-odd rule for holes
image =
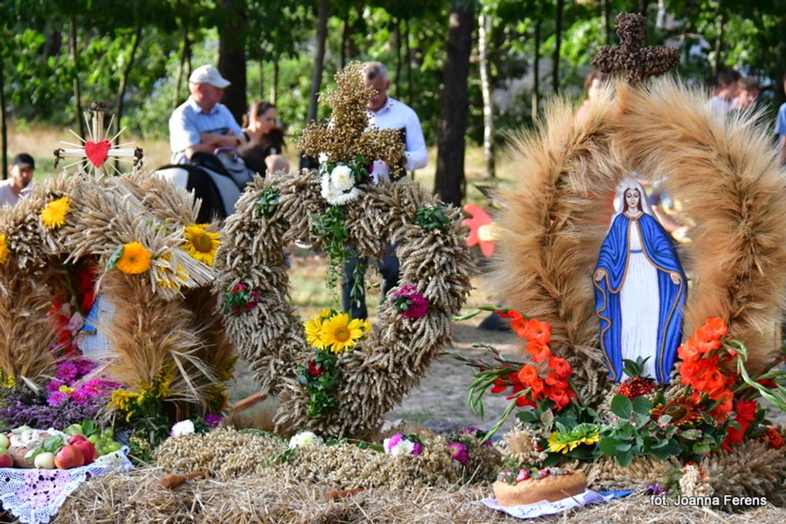
[[649, 76], [663, 75], [680, 61], [679, 50], [671, 46], [644, 46], [647, 19], [640, 14], [619, 13], [615, 18], [619, 46], [603, 46], [593, 65], [604, 73], [621, 73], [630, 83]]

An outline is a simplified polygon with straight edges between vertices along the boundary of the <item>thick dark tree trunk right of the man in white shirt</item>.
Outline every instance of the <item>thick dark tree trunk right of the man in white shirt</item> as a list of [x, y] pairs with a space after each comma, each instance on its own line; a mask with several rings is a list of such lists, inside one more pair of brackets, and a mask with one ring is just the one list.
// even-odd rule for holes
[[467, 130], [469, 56], [472, 53], [472, 6], [450, 12], [447, 57], [443, 82], [443, 107], [437, 139], [434, 192], [445, 203], [461, 207], [464, 196], [464, 135]]

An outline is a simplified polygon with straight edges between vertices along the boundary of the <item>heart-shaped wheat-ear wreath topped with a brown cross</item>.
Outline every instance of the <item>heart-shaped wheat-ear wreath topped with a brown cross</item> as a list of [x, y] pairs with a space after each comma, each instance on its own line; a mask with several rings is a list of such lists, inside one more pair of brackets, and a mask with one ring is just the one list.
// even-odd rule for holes
[[[339, 89], [328, 98], [334, 125], [312, 126], [303, 139], [304, 150], [326, 152], [338, 164], [364, 156], [401, 156], [401, 146], [390, 141], [393, 135], [387, 130], [364, 131], [365, 101], [373, 93], [362, 86], [359, 72], [358, 65], [351, 64], [336, 75]], [[324, 139], [332, 130], [329, 145]], [[384, 151], [386, 143], [391, 147]], [[376, 154], [369, 154], [369, 149]], [[331, 205], [325, 197], [329, 170], [334, 169], [325, 167], [329, 163], [323, 163], [321, 175], [303, 170], [255, 179], [222, 231], [215, 285], [224, 297], [226, 332], [249, 361], [263, 392], [277, 395], [281, 402], [279, 427], [361, 436], [373, 431], [384, 413], [417, 385], [440, 346], [450, 341], [450, 317], [468, 295], [472, 262], [457, 209], [441, 206], [410, 180], [358, 183], [346, 190], [352, 193], [351, 201], [339, 199], [341, 203]], [[369, 165], [365, 162], [364, 169]], [[363, 176], [368, 177], [367, 171]], [[336, 408], [310, 416], [310, 396], [298, 380], [298, 369], [308, 365], [314, 351], [288, 302], [284, 247], [293, 240], [307, 240], [314, 247], [328, 248], [325, 238], [314, 232], [329, 212], [343, 218], [344, 245], [354, 246], [358, 255], [381, 258], [388, 244], [395, 245], [401, 261], [399, 290], [417, 288], [428, 301], [428, 312], [410, 318], [388, 298], [378, 310], [373, 332], [338, 354]], [[238, 306], [232, 301], [233, 290], [243, 290], [248, 300]]]

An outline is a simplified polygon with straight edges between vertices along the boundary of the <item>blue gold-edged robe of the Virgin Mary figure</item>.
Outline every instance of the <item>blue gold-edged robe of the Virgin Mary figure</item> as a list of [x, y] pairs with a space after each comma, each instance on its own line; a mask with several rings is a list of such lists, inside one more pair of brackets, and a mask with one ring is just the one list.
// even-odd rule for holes
[[[647, 213], [637, 218], [619, 214], [601, 246], [598, 256], [598, 269], [606, 274], [595, 284], [595, 313], [601, 320], [601, 350], [608, 368], [608, 378], [619, 382], [623, 376], [623, 357], [620, 343], [620, 327], [623, 311], [620, 310], [619, 291], [623, 287], [628, 262], [628, 233], [632, 222], [638, 222], [641, 232], [641, 247], [648, 261], [658, 269], [658, 288], [652, 296], [660, 297], [658, 315], [658, 339], [655, 358], [655, 379], [658, 383], [668, 383], [671, 368], [677, 357], [677, 348], [682, 338], [682, 306], [685, 304], [687, 282], [677, 252], [671, 244], [663, 227]], [[593, 274], [595, 274], [593, 272]], [[679, 284], [671, 280], [671, 273], [680, 276]], [[642, 296], [641, 300], [650, 297]]]

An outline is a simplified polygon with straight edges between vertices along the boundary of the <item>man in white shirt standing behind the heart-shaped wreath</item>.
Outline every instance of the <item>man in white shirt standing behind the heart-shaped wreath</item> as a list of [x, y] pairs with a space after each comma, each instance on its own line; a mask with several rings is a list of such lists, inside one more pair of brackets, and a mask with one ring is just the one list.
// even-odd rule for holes
[[[366, 86], [376, 89], [376, 97], [366, 106], [369, 126], [402, 130], [405, 147], [401, 165], [410, 171], [425, 167], [428, 163], [428, 151], [423, 138], [421, 121], [410, 106], [387, 96], [387, 90], [391, 86], [391, 82], [387, 78], [387, 68], [380, 62], [366, 62], [363, 64], [363, 80]], [[380, 162], [375, 163], [375, 173], [376, 164]], [[367, 258], [352, 257], [344, 267], [341, 303], [344, 311], [351, 311], [352, 318], [368, 317], [365, 307], [365, 286], [362, 279], [357, 284], [360, 296], [355, 297], [355, 300], [351, 296], [351, 290], [355, 286], [354, 266], [358, 264], [365, 266], [368, 262]], [[388, 291], [399, 284], [399, 258], [396, 258], [392, 245], [388, 244], [387, 254], [377, 262], [377, 265], [382, 275], [381, 291], [384, 298]]]

